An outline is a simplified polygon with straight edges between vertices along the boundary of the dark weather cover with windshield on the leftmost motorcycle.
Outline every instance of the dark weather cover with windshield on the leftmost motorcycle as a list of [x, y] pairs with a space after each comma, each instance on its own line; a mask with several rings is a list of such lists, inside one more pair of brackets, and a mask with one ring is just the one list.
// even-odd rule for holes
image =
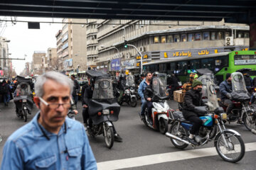
[[26, 107], [29, 111], [33, 108], [33, 101], [31, 96], [31, 86], [27, 82], [21, 82], [16, 88], [16, 96], [14, 97], [14, 103], [18, 111], [22, 110], [23, 101], [26, 101]]

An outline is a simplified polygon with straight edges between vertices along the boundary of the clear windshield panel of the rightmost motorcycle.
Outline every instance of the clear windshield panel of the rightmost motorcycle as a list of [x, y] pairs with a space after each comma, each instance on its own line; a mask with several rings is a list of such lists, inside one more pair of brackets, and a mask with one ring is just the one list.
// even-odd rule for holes
[[245, 79], [240, 72], [233, 72], [231, 74], [232, 90], [233, 91], [247, 91], [245, 87]]

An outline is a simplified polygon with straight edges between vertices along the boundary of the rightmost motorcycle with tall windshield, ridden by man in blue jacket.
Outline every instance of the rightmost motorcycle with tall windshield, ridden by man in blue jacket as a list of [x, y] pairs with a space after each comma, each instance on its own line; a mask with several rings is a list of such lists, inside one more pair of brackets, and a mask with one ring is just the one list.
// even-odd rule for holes
[[[234, 107], [230, 114], [228, 115], [228, 122], [235, 122], [241, 119], [247, 130], [252, 130], [256, 128], [256, 113], [255, 110], [249, 105], [250, 96], [248, 95], [247, 89], [245, 87], [245, 80], [240, 72], [234, 72], [231, 74], [232, 89], [230, 94]], [[223, 107], [224, 111], [227, 107], [219, 101], [220, 106]]]

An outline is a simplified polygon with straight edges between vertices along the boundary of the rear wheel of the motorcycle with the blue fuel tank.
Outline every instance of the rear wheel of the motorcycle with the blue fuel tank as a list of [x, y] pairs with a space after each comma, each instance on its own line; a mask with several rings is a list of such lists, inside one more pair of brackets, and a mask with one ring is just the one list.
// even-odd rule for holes
[[[171, 125], [170, 133], [172, 135], [181, 137], [181, 139], [183, 137], [188, 137], [188, 130], [183, 128], [183, 126], [181, 126], [181, 125], [178, 128], [178, 122], [175, 122], [173, 125]], [[188, 145], [186, 143], [179, 142], [178, 140], [174, 140], [172, 138], [170, 140], [171, 140], [171, 143], [174, 145], [174, 147], [176, 147], [178, 149], [184, 149], [184, 148], [188, 147]]]

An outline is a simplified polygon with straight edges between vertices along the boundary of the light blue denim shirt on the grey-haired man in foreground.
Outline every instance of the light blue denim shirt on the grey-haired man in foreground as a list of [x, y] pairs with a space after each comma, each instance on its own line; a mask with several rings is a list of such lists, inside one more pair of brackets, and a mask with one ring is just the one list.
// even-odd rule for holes
[[70, 118], [58, 135], [43, 135], [38, 124], [39, 113], [14, 132], [4, 145], [2, 169], [97, 169], [85, 128]]

